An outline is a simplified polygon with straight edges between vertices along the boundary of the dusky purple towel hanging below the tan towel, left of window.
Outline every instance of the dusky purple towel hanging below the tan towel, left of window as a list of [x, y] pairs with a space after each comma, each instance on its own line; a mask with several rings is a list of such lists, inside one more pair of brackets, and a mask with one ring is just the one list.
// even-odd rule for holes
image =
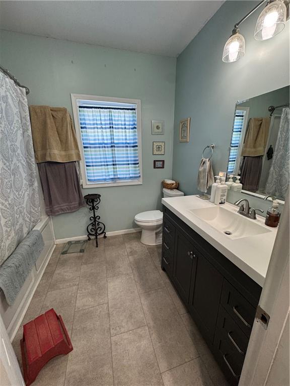
[[86, 205], [76, 162], [41, 162], [37, 166], [47, 215], [75, 212]]

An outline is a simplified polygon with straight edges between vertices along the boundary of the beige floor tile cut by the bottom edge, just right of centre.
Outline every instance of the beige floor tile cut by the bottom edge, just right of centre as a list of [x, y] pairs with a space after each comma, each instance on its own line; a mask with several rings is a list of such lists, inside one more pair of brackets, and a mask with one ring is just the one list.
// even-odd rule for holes
[[213, 386], [200, 358], [162, 373], [162, 378], [164, 386]]

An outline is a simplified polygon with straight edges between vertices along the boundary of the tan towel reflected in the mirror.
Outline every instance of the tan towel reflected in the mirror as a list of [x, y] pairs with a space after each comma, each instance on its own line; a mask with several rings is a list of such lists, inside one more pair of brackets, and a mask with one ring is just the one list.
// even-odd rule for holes
[[270, 118], [251, 118], [249, 120], [242, 156], [264, 155], [267, 145]]

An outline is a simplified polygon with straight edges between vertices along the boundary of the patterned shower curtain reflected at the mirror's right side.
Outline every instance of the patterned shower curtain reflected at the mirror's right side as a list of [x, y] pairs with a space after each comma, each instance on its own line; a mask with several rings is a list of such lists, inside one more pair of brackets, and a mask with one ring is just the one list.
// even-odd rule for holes
[[267, 195], [274, 195], [278, 198], [285, 198], [289, 186], [289, 112], [288, 107], [282, 110], [278, 137], [265, 188]]

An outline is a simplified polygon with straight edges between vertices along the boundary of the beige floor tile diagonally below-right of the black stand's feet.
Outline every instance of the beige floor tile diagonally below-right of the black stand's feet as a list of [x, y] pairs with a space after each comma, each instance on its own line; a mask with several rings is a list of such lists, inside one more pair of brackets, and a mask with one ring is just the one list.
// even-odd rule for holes
[[127, 251], [124, 245], [106, 247], [107, 277], [131, 273]]

